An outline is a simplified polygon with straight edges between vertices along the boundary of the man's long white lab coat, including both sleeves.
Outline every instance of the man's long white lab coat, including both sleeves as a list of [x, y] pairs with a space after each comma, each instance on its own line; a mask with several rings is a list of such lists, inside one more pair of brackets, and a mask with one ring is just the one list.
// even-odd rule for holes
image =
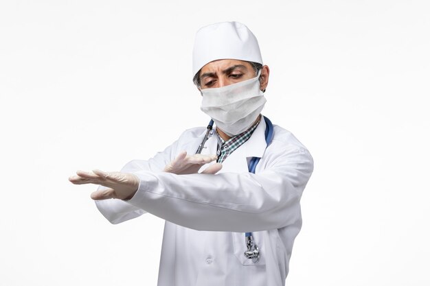
[[[154, 158], [133, 160], [122, 169], [141, 179], [131, 200], [96, 202], [113, 224], [146, 212], [166, 219], [159, 286], [284, 285], [293, 241], [302, 226], [299, 200], [313, 158], [279, 126], [273, 126], [267, 147], [265, 128], [261, 120], [216, 175], [163, 172], [179, 152], [196, 152], [206, 128], [186, 130]], [[202, 154], [216, 154], [216, 147], [214, 134]], [[253, 156], [261, 157], [256, 174], [248, 172]], [[258, 263], [243, 254], [245, 232], [253, 233], [260, 248]]]

